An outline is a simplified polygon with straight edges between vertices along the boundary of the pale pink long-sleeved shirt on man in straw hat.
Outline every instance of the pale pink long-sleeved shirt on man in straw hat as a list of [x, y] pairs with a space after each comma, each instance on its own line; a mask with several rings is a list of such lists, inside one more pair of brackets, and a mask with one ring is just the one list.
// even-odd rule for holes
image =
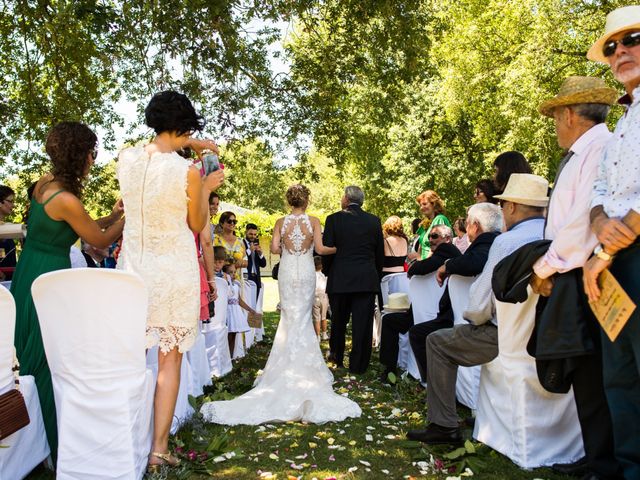
[[552, 240], [547, 253], [533, 265], [540, 278], [582, 267], [598, 241], [591, 232], [589, 211], [593, 182], [611, 132], [604, 123], [586, 131], [569, 150], [547, 214], [544, 238]]

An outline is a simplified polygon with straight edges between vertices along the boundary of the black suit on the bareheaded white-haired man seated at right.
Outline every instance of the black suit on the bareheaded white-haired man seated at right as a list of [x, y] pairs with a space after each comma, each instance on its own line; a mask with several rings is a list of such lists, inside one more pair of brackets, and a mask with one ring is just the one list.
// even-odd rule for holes
[[[463, 255], [451, 258], [447, 261], [447, 273], [450, 275], [462, 275], [465, 277], [478, 275], [482, 272], [484, 264], [487, 263], [491, 244], [499, 234], [500, 232], [487, 232], [478, 235]], [[436, 249], [433, 256], [438, 253], [442, 246], [443, 245], [440, 245]], [[445, 254], [445, 252], [448, 252], [448, 250], [443, 250], [440, 254]], [[427, 260], [429, 259], [427, 258], [422, 262], [426, 262]], [[416, 265], [418, 265], [418, 263], [414, 264], [414, 266]], [[439, 309], [436, 318], [429, 320], [428, 322], [418, 323], [409, 329], [409, 343], [411, 343], [411, 350], [413, 350], [413, 354], [416, 357], [416, 363], [418, 364], [418, 370], [420, 370], [420, 378], [422, 381], [426, 381], [427, 379], [427, 337], [441, 328], [453, 327], [453, 309], [451, 307], [451, 299], [449, 297], [449, 287], [447, 287], [442, 294], [438, 306]]]

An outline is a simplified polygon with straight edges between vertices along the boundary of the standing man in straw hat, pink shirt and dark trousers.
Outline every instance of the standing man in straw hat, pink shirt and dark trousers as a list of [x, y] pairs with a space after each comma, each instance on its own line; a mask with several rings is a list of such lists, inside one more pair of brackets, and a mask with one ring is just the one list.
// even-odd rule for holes
[[[575, 277], [579, 284], [581, 267], [598, 243], [589, 222], [591, 192], [602, 152], [611, 138], [604, 122], [616, 98], [616, 91], [608, 88], [602, 79], [569, 77], [558, 95], [540, 105], [540, 113], [553, 118], [558, 145], [567, 153], [558, 166], [549, 201], [545, 238], [552, 242], [533, 265], [531, 287], [535, 293], [566, 295], [563, 289], [553, 291], [554, 280], [558, 275], [565, 275]], [[585, 458], [552, 468], [564, 474], [619, 478], [620, 468], [613, 454], [611, 416], [601, 376], [600, 328], [586, 296], [576, 301], [581, 312], [576, 321], [588, 332], [589, 350], [576, 356], [572, 352], [573, 369], [567, 373], [567, 380], [573, 386]], [[545, 306], [546, 314], [562, 316], [552, 304]]]

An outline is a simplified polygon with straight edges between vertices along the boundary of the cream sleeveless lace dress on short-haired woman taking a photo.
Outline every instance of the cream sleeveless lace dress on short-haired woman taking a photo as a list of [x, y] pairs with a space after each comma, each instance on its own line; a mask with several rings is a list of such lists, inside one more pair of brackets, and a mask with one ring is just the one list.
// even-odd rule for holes
[[116, 173], [126, 222], [118, 269], [137, 273], [149, 292], [147, 348], [193, 345], [200, 313], [200, 271], [187, 224], [187, 172], [176, 153], [123, 150]]

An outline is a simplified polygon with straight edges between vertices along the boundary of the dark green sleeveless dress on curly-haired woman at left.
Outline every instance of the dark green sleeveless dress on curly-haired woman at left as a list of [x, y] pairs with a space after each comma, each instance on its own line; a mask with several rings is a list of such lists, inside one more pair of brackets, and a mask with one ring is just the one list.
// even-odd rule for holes
[[62, 190], [51, 195], [45, 203], [31, 199], [27, 239], [11, 281], [11, 293], [16, 301], [15, 346], [20, 374], [35, 378], [54, 463], [58, 453], [56, 406], [38, 315], [31, 298], [31, 284], [43, 273], [71, 268], [69, 249], [78, 235], [67, 222], [52, 220], [44, 210], [44, 206], [60, 192]]

